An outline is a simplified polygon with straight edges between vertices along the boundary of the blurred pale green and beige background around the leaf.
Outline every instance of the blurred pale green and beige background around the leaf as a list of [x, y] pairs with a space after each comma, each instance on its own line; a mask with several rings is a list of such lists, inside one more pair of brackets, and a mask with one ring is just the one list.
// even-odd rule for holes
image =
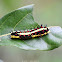
[[[30, 4], [35, 4], [33, 16], [39, 25], [62, 27], [62, 0], [0, 0], [0, 18]], [[62, 46], [52, 51], [26, 51], [1, 46], [0, 62], [62, 62]]]

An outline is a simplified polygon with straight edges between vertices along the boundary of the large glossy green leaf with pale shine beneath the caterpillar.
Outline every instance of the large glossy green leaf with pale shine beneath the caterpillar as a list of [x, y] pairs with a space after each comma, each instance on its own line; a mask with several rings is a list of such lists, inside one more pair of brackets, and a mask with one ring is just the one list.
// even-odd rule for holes
[[61, 27], [51, 27], [48, 35], [29, 40], [11, 39], [10, 35], [5, 35], [12, 30], [25, 30], [39, 26], [33, 19], [32, 11], [33, 5], [28, 5], [0, 19], [0, 46], [10, 45], [25, 50], [52, 50], [62, 44]]

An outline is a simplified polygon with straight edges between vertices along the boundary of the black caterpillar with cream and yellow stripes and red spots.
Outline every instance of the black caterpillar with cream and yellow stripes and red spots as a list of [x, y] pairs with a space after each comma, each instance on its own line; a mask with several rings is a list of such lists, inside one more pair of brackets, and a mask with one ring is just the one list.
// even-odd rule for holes
[[43, 27], [42, 25], [39, 28], [21, 31], [11, 32], [11, 39], [31, 39], [36, 37], [42, 37], [47, 35], [50, 32], [48, 27]]

